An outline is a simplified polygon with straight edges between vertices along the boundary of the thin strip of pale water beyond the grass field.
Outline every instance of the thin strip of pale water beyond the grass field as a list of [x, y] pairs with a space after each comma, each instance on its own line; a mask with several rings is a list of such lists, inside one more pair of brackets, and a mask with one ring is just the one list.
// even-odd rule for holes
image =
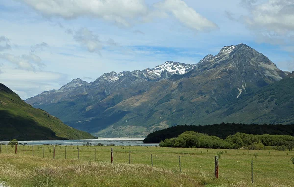
[[[99, 139], [83, 139], [83, 140], [40, 140], [40, 141], [18, 141], [19, 144], [27, 145], [83, 145], [87, 142], [92, 145], [102, 143], [104, 145], [114, 144], [120, 146], [157, 146], [158, 143], [143, 143], [144, 138], [99, 138]], [[9, 141], [0, 141], [0, 144], [7, 144]]]

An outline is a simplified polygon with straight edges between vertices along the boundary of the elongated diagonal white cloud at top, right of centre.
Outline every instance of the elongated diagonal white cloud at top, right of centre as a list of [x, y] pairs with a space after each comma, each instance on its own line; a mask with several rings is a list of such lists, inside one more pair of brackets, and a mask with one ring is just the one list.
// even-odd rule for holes
[[165, 0], [157, 3], [155, 7], [171, 12], [177, 20], [192, 30], [207, 32], [218, 28], [215, 23], [201, 16], [182, 0]]

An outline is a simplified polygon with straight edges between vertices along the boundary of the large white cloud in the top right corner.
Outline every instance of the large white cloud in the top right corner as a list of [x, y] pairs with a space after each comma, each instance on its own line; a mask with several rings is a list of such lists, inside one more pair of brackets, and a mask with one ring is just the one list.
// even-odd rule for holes
[[265, 38], [284, 40], [294, 36], [294, 1], [268, 0], [257, 3], [256, 0], [243, 0], [249, 10], [249, 15], [243, 16], [242, 21], [250, 29], [257, 31]]

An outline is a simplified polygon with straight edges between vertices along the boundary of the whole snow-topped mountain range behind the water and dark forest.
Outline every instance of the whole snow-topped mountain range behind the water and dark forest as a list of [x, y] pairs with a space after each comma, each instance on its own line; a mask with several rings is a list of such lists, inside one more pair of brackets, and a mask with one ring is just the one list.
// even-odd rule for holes
[[174, 125], [294, 123], [294, 73], [262, 53], [225, 46], [197, 64], [77, 78], [26, 100], [65, 124], [99, 137], [146, 136]]

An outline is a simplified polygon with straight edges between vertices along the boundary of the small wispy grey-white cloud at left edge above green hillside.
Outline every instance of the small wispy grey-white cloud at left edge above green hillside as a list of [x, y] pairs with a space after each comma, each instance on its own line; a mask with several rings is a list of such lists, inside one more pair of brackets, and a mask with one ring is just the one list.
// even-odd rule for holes
[[33, 53], [29, 53], [28, 55], [23, 54], [21, 56], [4, 53], [0, 54], [0, 59], [16, 65], [17, 69], [20, 70], [36, 71], [45, 66], [41, 58]]

